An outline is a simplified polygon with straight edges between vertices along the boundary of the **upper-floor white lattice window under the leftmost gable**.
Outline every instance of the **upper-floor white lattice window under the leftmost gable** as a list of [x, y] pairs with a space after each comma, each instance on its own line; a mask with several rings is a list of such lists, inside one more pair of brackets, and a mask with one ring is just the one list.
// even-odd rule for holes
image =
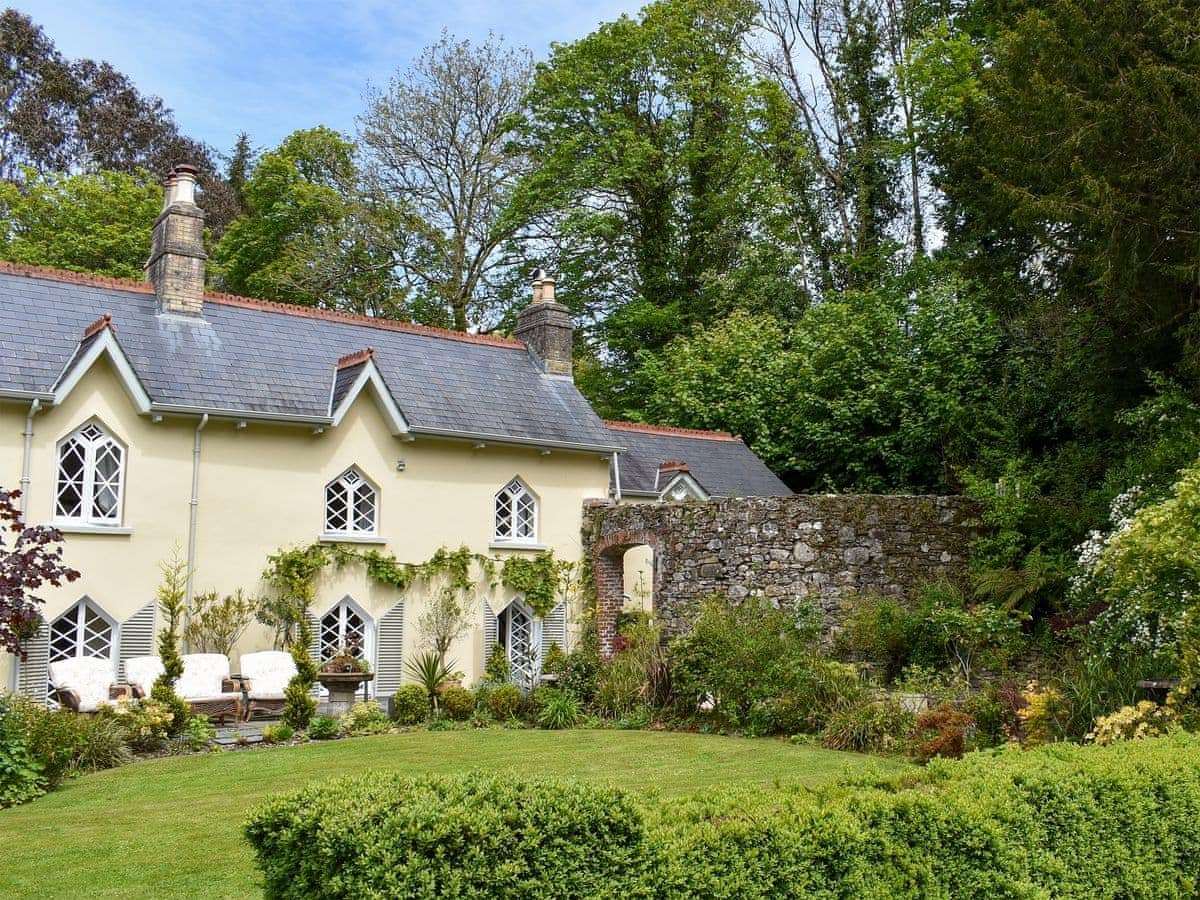
[[96, 422], [59, 443], [54, 517], [86, 524], [120, 524], [125, 448]]

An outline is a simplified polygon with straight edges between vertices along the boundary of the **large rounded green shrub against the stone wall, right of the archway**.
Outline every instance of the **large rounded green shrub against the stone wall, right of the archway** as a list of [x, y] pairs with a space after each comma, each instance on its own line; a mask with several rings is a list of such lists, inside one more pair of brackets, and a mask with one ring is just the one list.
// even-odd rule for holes
[[713, 714], [745, 727], [751, 710], [792, 686], [798, 660], [811, 656], [806, 631], [763, 598], [731, 606], [708, 598], [691, 632], [671, 642], [671, 682], [684, 715], [710, 698]]

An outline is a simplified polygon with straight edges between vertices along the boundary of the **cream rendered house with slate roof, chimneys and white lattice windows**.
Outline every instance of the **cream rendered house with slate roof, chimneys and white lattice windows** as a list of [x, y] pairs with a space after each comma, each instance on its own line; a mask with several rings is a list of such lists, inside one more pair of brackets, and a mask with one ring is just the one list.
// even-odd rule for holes
[[[575, 386], [552, 280], [534, 282], [517, 340], [205, 293], [194, 176], [167, 181], [146, 283], [0, 264], [0, 485], [64, 532], [82, 572], [41, 592], [47, 622], [28, 661], [0, 655], [0, 686], [46, 696], [48, 662], [78, 655], [121, 678], [154, 652], [175, 547], [190, 594], [260, 593], [269, 554], [317, 540], [412, 563], [460, 546], [574, 562], [584, 502], [620, 497], [626, 434]], [[317, 652], [360, 644], [391, 695], [422, 590], [328, 571]], [[542, 620], [503, 587], [473, 602], [478, 625], [449, 654], [468, 679], [496, 640], [514, 659], [566, 640], [562, 604]], [[252, 626], [235, 671], [270, 642]]]

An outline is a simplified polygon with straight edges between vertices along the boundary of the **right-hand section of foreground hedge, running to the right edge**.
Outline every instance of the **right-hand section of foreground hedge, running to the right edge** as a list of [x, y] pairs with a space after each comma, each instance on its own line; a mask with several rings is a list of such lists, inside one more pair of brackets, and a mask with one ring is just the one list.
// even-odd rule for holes
[[[821, 792], [736, 791], [650, 816], [650, 896], [1190, 896], [1200, 740], [935, 760]], [[629, 889], [630, 894], [635, 890]]]

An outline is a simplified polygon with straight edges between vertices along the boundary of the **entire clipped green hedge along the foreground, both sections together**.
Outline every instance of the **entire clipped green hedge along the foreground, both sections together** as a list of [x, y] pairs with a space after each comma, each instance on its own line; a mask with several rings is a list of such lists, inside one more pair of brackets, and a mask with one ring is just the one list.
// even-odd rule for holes
[[372, 775], [254, 814], [269, 896], [1177, 898], [1200, 886], [1200, 738], [936, 760], [668, 800]]

